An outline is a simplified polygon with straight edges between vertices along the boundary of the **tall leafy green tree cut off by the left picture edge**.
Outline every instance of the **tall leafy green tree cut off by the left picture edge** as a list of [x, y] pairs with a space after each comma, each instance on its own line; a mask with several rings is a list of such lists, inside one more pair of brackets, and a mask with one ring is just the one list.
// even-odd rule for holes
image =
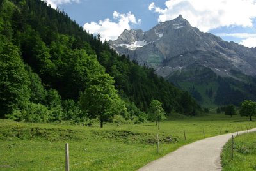
[[26, 108], [30, 98], [29, 77], [19, 48], [11, 43], [0, 48], [0, 117]]

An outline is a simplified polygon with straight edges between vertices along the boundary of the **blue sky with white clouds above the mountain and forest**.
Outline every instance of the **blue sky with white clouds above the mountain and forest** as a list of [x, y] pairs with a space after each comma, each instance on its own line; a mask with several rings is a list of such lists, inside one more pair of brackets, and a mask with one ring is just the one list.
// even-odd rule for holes
[[148, 31], [180, 14], [200, 31], [256, 47], [256, 0], [48, 0], [102, 40], [124, 29]]

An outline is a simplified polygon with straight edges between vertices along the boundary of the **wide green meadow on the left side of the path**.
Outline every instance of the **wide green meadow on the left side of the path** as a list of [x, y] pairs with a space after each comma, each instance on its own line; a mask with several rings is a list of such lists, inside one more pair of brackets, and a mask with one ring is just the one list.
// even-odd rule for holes
[[[253, 118], [254, 119], [254, 118]], [[0, 170], [63, 170], [65, 143], [71, 170], [137, 170], [182, 145], [206, 137], [256, 127], [255, 121], [223, 114], [155, 123], [114, 123], [98, 128], [0, 120]], [[184, 130], [186, 140], [184, 140]], [[157, 154], [156, 134], [160, 152]]]

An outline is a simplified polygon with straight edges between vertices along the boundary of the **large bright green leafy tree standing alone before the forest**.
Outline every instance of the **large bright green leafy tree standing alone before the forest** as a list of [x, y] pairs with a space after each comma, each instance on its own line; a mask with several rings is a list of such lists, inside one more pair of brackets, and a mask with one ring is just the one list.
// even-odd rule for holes
[[103, 128], [104, 121], [127, 111], [113, 84], [113, 78], [108, 74], [95, 75], [80, 96], [80, 107], [88, 112], [88, 117], [99, 118], [100, 128]]

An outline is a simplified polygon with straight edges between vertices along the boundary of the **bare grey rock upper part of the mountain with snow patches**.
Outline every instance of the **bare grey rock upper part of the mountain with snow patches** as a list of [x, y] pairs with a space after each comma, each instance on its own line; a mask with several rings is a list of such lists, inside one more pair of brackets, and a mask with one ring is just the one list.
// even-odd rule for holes
[[210, 68], [221, 77], [239, 80], [232, 71], [256, 75], [256, 48], [203, 33], [181, 15], [146, 32], [125, 30], [117, 40], [109, 41], [109, 45], [120, 55], [125, 54], [141, 65], [153, 67], [163, 77], [188, 70], [195, 63]]

